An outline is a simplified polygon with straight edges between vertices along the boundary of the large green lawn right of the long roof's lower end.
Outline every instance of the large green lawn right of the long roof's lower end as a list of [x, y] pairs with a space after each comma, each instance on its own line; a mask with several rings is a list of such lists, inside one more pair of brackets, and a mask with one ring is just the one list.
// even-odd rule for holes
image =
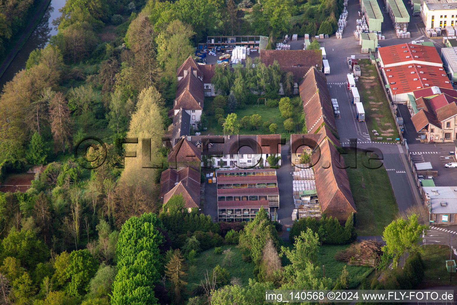
[[[363, 166], [367, 158], [365, 152], [359, 151], [357, 168], [346, 169], [357, 208], [356, 229], [358, 235], [382, 235], [399, 209], [385, 167], [369, 169]], [[344, 155], [344, 160], [346, 166], [353, 166], [354, 153]], [[374, 165], [373, 161], [370, 164]]]

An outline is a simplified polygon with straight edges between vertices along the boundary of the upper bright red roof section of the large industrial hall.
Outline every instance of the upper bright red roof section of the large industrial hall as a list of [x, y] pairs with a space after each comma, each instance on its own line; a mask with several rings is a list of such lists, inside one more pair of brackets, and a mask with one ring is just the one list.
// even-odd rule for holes
[[[442, 64], [435, 47], [420, 44], [402, 43], [378, 49], [384, 67], [390, 64], [416, 62], [417, 64]], [[407, 58], [409, 56], [409, 58]], [[382, 67], [383, 68], [383, 67]]]

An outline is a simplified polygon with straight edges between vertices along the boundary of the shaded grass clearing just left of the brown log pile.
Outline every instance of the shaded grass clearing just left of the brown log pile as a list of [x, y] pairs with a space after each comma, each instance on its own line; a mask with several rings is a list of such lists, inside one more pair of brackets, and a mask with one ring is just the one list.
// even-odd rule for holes
[[[292, 249], [293, 245], [291, 243], [285, 243], [285, 246], [289, 249]], [[318, 253], [318, 264], [320, 266], [321, 273], [325, 272], [326, 278], [331, 278], [333, 280], [333, 285], [336, 283], [336, 279], [340, 277], [341, 270], [346, 265], [345, 262], [337, 261], [335, 258], [336, 253], [348, 248], [351, 246], [350, 244], [347, 245], [323, 245], [319, 247]], [[283, 258], [282, 265], [289, 264], [289, 260], [285, 257]], [[324, 265], [324, 268], [322, 268]], [[365, 266], [349, 266], [347, 265], [347, 271], [349, 272], [349, 288], [355, 289], [361, 282], [363, 278], [366, 278], [374, 268], [372, 267], [365, 267]], [[325, 270], [324, 270], [325, 269]], [[320, 276], [323, 276], [321, 274]]]

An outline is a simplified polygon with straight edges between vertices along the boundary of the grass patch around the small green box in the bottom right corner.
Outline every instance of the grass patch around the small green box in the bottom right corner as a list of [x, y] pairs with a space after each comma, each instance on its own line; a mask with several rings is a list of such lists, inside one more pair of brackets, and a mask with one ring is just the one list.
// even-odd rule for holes
[[[422, 248], [424, 246], [421, 246]], [[441, 248], [440, 248], [441, 247]], [[452, 283], [449, 282], [450, 274], [446, 270], [446, 262], [450, 258], [449, 246], [425, 245], [422, 260], [424, 261], [425, 276], [423, 283], [453, 284], [457, 283], [457, 273], [452, 273]], [[452, 259], [457, 257], [452, 253]]]

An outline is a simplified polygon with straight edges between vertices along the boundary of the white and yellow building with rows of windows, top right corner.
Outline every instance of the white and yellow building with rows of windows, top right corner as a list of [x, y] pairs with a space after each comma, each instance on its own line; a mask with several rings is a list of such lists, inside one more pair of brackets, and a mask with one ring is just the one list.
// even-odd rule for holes
[[457, 1], [426, 0], [421, 7], [420, 16], [427, 29], [452, 27], [457, 23]]

